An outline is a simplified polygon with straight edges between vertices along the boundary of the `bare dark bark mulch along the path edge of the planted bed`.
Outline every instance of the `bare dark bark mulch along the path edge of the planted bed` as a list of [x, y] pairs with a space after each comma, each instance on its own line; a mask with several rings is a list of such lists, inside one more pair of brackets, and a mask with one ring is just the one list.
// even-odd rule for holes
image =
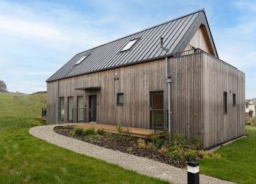
[[[170, 156], [160, 154], [157, 150], [151, 148], [138, 148], [138, 137], [129, 135], [118, 135], [114, 133], [105, 133], [105, 135], [92, 136], [75, 136], [72, 134], [73, 126], [58, 126], [54, 128], [54, 132], [60, 135], [66, 135], [71, 138], [76, 138], [81, 141], [96, 144], [100, 147], [109, 148], [115, 151], [122, 151], [127, 154], [133, 154], [138, 157], [147, 157], [152, 160], [157, 160], [162, 163], [167, 163], [175, 167], [183, 168], [185, 163], [173, 162]], [[145, 139], [145, 141], [149, 141]]]

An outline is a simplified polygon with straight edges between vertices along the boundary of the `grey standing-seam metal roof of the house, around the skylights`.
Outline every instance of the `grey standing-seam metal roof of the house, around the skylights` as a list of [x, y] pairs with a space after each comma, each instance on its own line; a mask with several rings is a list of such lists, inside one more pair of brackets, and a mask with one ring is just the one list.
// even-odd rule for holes
[[[201, 24], [206, 25], [212, 48], [215, 56], [218, 57], [205, 11], [199, 10], [182, 17], [177, 17], [164, 24], [158, 24], [157, 26], [132, 33], [110, 43], [80, 52], [70, 59], [69, 62], [66, 62], [47, 81], [55, 81], [60, 78], [70, 78], [76, 75], [84, 75], [109, 68], [121, 67], [123, 65], [131, 65], [137, 62], [145, 62], [182, 51]], [[169, 52], [160, 49], [160, 37], [164, 37], [164, 46], [170, 49]], [[136, 38], [139, 38], [139, 40], [131, 49], [120, 52], [130, 40]], [[86, 59], [79, 65], [74, 65], [84, 55], [88, 55]]]

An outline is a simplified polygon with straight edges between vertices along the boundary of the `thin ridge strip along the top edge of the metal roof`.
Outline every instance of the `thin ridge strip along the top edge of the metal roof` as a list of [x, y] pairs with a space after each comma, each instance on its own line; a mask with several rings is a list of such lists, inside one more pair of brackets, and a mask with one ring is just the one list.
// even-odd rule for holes
[[124, 39], [124, 38], [126, 38], [126, 37], [128, 37], [128, 36], [132, 36], [132, 35], [134, 35], [134, 34], [141, 33], [141, 32], [143, 32], [143, 31], [145, 31], [145, 30], [150, 30], [150, 29], [152, 29], [152, 28], [154, 28], [154, 27], [158, 27], [158, 26], [161, 26], [161, 25], [163, 25], [163, 24], [170, 23], [171, 21], [176, 21], [176, 20], [178, 20], [178, 19], [180, 19], [180, 18], [190, 16], [191, 14], [196, 14], [196, 13], [198, 13], [199, 11], [203, 11], [204, 13], [206, 13], [205, 8], [200, 8], [200, 9], [198, 9], [198, 10], [196, 10], [196, 11], [192, 11], [192, 12], [190, 12], [190, 13], [188, 13], [188, 14], [183, 14], [183, 15], [181, 15], [181, 16], [179, 16], [179, 17], [175, 17], [175, 18], [173, 18], [173, 19], [171, 19], [171, 20], [169, 20], [169, 21], [164, 21], [163, 23], [154, 25], [154, 26], [152, 26], [152, 27], [147, 27], [147, 28], [144, 29], [144, 30], [139, 30], [139, 31], [137, 31], [137, 32], [135, 32], [135, 33], [130, 33], [130, 34], [128, 34], [127, 36], [122, 36], [121, 38], [118, 38], [118, 39], [109, 41], [109, 42], [107, 42], [107, 43], [102, 43], [101, 45], [92, 47], [91, 49], [86, 49], [86, 50], [84, 50], [84, 51], [82, 51], [82, 52], [78, 52], [78, 53], [76, 53], [76, 55], [79, 55], [79, 54], [81, 54], [81, 53], [83, 53], [83, 52], [88, 52], [89, 50], [96, 49], [96, 48], [98, 48], [98, 47], [100, 47], [100, 46], [105, 46], [106, 44], [113, 43], [113, 42], [115, 42], [115, 41], [117, 41], [117, 40]]

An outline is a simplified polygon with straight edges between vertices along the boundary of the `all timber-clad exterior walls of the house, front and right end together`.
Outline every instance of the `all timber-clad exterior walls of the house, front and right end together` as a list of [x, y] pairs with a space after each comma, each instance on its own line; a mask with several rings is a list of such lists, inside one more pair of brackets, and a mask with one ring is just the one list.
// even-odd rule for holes
[[[172, 132], [182, 132], [190, 140], [199, 136], [203, 148], [245, 134], [245, 75], [241, 71], [206, 53], [171, 58], [169, 63], [173, 79]], [[118, 80], [114, 80], [115, 74]], [[75, 90], [78, 87], [96, 86], [100, 86], [101, 90]], [[65, 101], [64, 122], [67, 122], [67, 97], [73, 97], [74, 122], [77, 121], [78, 96], [84, 97], [86, 122], [89, 122], [89, 95], [96, 94], [96, 122], [150, 128], [150, 91], [158, 90], [164, 91], [166, 110], [164, 59], [49, 82], [47, 122], [57, 122], [58, 93]], [[228, 92], [226, 115], [223, 114], [223, 91]], [[124, 93], [124, 106], [116, 104], [118, 93]], [[232, 106], [233, 93], [237, 97], [236, 106]]]

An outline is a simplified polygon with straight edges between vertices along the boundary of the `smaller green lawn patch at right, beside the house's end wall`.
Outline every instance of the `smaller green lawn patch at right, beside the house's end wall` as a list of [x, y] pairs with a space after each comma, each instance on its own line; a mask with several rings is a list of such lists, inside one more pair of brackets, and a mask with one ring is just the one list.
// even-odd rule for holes
[[246, 127], [242, 138], [217, 151], [219, 159], [200, 161], [200, 173], [238, 183], [256, 183], [256, 127]]

